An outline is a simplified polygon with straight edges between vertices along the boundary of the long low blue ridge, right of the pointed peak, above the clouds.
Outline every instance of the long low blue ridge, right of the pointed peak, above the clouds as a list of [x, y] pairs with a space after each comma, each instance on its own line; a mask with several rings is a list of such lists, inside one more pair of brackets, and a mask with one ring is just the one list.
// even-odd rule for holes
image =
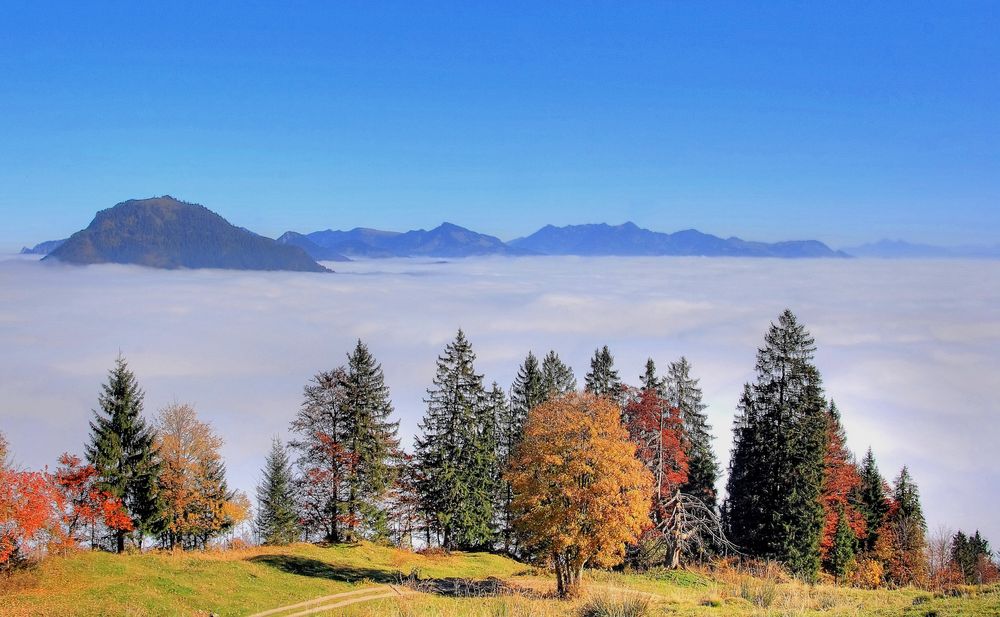
[[687, 229], [662, 233], [635, 223], [546, 225], [509, 246], [543, 255], [691, 255], [707, 257], [847, 257], [817, 240], [748, 242]]

